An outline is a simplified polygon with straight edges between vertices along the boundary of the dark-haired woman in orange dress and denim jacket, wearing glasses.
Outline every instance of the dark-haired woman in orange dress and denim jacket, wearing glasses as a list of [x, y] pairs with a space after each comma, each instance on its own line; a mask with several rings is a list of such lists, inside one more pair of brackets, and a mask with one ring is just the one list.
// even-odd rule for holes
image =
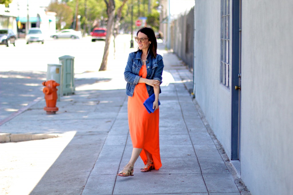
[[[163, 58], [157, 54], [157, 41], [154, 31], [144, 27], [137, 32], [135, 41], [138, 50], [129, 54], [124, 77], [127, 82], [128, 124], [133, 150], [129, 163], [118, 176], [132, 176], [133, 166], [138, 156], [145, 166], [141, 172], [161, 168], [159, 147], [159, 93], [162, 83]], [[144, 101], [155, 95], [154, 113], [148, 113]]]

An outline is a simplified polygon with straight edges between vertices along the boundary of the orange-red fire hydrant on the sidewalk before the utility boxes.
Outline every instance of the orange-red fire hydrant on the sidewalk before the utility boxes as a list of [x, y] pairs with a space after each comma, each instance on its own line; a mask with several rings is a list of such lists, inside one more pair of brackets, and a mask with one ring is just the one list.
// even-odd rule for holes
[[58, 89], [56, 87], [60, 84], [54, 80], [44, 81], [42, 84], [46, 86], [43, 89], [47, 105], [44, 110], [47, 111], [47, 114], [56, 114], [56, 111], [58, 111], [58, 107], [56, 107]]

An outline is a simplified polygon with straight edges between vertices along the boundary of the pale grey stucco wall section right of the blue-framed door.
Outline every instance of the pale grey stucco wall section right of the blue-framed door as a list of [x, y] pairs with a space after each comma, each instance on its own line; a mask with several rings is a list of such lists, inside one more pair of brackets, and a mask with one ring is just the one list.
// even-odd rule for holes
[[242, 1], [241, 177], [293, 193], [293, 1]]

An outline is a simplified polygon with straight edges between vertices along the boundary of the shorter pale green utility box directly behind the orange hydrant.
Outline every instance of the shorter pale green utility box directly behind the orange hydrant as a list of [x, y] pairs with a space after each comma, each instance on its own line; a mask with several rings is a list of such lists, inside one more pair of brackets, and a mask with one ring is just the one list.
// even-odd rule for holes
[[62, 94], [62, 64], [48, 64], [47, 67], [47, 81], [54, 80], [60, 85], [57, 86], [57, 101], [60, 101], [60, 96]]

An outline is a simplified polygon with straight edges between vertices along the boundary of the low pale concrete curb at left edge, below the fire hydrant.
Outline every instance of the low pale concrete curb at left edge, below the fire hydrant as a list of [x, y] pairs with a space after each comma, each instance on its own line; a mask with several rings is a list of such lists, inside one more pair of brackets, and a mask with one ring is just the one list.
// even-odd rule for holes
[[31, 141], [38, 139], [49, 139], [59, 137], [58, 134], [11, 134], [0, 133], [0, 143]]

